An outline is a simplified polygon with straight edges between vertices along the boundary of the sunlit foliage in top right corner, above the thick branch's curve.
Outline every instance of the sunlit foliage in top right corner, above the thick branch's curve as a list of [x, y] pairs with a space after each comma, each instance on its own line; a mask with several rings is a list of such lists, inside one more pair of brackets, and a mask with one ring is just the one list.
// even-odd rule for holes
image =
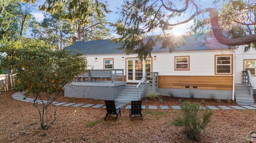
[[[219, 14], [219, 23], [222, 31], [228, 31], [231, 38], [243, 37], [256, 33], [256, 3], [255, 0], [224, 0], [216, 1], [216, 5], [222, 3], [221, 7], [217, 7]], [[246, 43], [245, 51], [249, 51], [251, 47], [256, 49], [256, 40]], [[240, 45], [240, 44], [239, 44]]]

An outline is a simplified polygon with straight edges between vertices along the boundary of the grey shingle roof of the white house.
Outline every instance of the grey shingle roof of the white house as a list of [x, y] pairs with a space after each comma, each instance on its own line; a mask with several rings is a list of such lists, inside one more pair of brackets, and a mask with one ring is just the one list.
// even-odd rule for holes
[[[175, 48], [174, 52], [178, 51], [206, 51], [206, 50], [218, 50], [228, 49], [227, 45], [223, 45], [216, 41], [216, 39], [208, 39], [208, 42], [204, 42], [204, 39], [197, 37], [196, 35], [184, 36], [185, 45], [181, 45]], [[104, 54], [124, 54], [124, 51], [118, 50], [122, 43], [111, 42], [110, 39], [106, 40], [94, 40], [94, 41], [76, 41], [74, 44], [69, 45], [65, 49], [72, 51], [76, 54], [78, 51], [84, 55], [104, 55]], [[161, 43], [157, 43], [151, 53], [168, 52], [168, 49], [161, 49]]]

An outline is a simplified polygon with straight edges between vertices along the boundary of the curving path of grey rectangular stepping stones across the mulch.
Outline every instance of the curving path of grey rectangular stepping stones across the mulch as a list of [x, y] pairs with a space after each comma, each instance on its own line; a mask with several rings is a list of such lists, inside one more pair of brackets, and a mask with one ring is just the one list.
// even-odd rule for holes
[[[16, 99], [16, 100], [20, 100], [20, 101], [24, 101], [24, 102], [31, 102], [33, 103], [34, 102], [34, 99], [32, 98], [26, 98], [24, 99], [24, 94], [25, 92], [16, 92], [14, 94], [12, 94], [12, 98]], [[47, 103], [47, 101], [44, 101], [43, 102], [39, 102], [38, 100], [38, 104], [43, 104], [43, 103]], [[84, 108], [88, 108], [88, 107], [91, 107], [91, 108], [106, 108], [106, 106], [104, 106], [104, 104], [83, 104], [83, 103], [68, 103], [68, 102], [54, 102], [54, 105], [58, 105], [58, 106], [72, 106], [72, 107], [84, 107]], [[119, 104], [119, 106], [122, 106], [124, 107], [126, 104]], [[256, 109], [256, 105], [253, 104], [253, 105], [239, 105], [239, 106], [206, 106], [208, 107], [209, 109], [212, 109], [212, 110], [220, 110], [220, 109], [223, 109], [223, 110], [232, 110], [232, 109], [237, 109], [237, 110], [245, 110], [245, 109]], [[130, 105], [127, 105], [125, 109], [128, 109], [130, 108]], [[143, 109], [146, 109], [146, 106], [142, 105], [142, 108]], [[174, 109], [174, 110], [180, 110], [180, 106], [160, 106], [160, 109], [162, 110], [169, 110], [170, 108]], [[158, 109], [157, 106], [155, 105], [149, 105], [148, 106], [148, 109]], [[201, 106], [200, 109], [205, 109], [205, 107]]]

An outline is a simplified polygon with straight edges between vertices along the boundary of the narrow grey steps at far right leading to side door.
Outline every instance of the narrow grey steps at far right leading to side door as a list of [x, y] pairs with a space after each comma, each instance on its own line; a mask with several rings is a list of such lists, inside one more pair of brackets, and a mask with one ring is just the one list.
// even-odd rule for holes
[[251, 94], [250, 86], [246, 84], [235, 84], [235, 97], [239, 105], [252, 105], [254, 99]]

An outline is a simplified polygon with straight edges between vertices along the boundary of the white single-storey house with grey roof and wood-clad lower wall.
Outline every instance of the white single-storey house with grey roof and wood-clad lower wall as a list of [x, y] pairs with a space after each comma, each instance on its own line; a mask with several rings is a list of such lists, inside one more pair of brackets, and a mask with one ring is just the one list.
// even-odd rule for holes
[[117, 49], [121, 43], [111, 43], [109, 39], [73, 40], [65, 49], [74, 54], [82, 52], [90, 65], [88, 69], [124, 69], [126, 83], [138, 83], [146, 72], [158, 72], [161, 95], [172, 92], [178, 97], [194, 94], [195, 98], [235, 100], [235, 84], [242, 84], [242, 71], [250, 70], [256, 82], [256, 51], [243, 53], [242, 46], [228, 49], [215, 39], [185, 36], [185, 45], [172, 53], [161, 49], [158, 43], [146, 61], [140, 61], [137, 55], [126, 55]]

